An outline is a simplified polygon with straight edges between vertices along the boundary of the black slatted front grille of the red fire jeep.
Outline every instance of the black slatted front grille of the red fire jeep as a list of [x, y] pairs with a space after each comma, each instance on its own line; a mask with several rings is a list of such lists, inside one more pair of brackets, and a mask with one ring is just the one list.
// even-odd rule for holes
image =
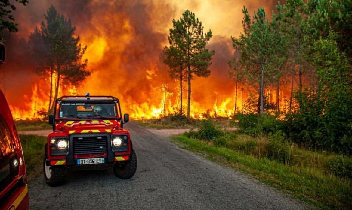
[[74, 155], [95, 154], [107, 152], [107, 137], [74, 137], [73, 153]]

